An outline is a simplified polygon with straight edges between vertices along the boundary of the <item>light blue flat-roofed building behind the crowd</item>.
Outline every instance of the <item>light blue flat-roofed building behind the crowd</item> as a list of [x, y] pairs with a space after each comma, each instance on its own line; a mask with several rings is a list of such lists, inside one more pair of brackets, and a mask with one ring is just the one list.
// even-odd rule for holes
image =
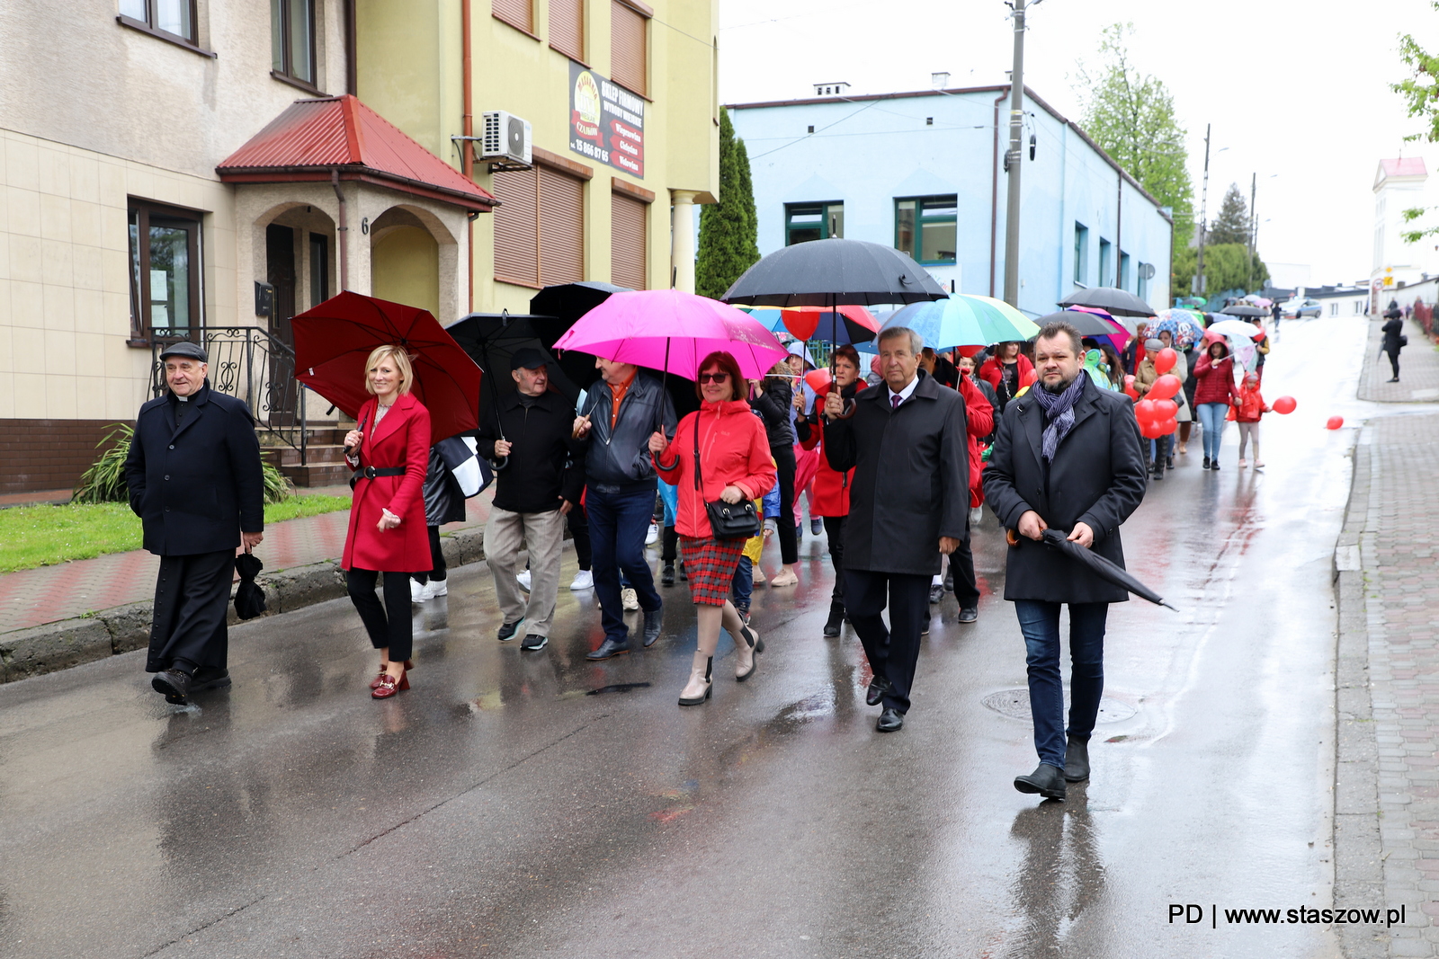
[[[869, 240], [909, 253], [945, 289], [1003, 296], [1007, 101], [1009, 86], [980, 86], [730, 106], [760, 253]], [[1025, 109], [1019, 308], [1039, 316], [1088, 286], [1168, 306], [1168, 210], [1029, 89]]]

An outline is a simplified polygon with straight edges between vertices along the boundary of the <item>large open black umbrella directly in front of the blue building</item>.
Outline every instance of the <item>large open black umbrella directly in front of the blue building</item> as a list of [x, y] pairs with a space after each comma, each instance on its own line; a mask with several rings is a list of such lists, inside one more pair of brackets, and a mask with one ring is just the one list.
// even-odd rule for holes
[[922, 266], [894, 247], [827, 239], [770, 253], [720, 299], [753, 306], [868, 306], [945, 296]]

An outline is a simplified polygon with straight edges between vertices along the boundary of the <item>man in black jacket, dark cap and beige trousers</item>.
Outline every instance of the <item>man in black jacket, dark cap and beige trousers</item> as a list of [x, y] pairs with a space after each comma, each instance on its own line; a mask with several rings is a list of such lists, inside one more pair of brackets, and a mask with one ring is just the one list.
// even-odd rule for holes
[[[519, 634], [519, 648], [537, 653], [550, 641], [560, 588], [564, 518], [584, 489], [584, 441], [573, 437], [574, 410], [550, 388], [547, 358], [532, 347], [515, 351], [515, 391], [499, 397], [479, 427], [482, 457], [496, 463], [495, 502], [485, 525], [485, 559], [495, 575], [504, 614], [501, 643]], [[530, 600], [515, 579], [519, 546], [530, 546]]]

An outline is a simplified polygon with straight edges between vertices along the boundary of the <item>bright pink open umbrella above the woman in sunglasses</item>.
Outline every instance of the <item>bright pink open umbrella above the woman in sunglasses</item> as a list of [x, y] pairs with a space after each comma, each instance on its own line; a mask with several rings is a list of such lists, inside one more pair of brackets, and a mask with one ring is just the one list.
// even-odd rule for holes
[[789, 352], [763, 324], [720, 300], [675, 289], [610, 293], [576, 321], [555, 349], [632, 362], [694, 380], [699, 361], [724, 349], [747, 380], [760, 380]]

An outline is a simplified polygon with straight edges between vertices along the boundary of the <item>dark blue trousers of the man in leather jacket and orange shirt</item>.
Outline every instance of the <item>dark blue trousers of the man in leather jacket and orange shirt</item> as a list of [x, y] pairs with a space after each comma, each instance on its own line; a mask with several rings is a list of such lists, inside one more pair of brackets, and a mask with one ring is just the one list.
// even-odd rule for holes
[[[613, 489], [613, 487], [610, 487]], [[620, 572], [639, 597], [639, 608], [658, 610], [662, 602], [655, 591], [655, 574], [645, 558], [645, 535], [655, 512], [655, 490], [629, 493], [606, 492], [590, 486], [584, 495], [590, 519], [590, 548], [594, 559], [594, 595], [600, 600], [604, 638], [623, 643], [629, 638], [625, 607], [620, 602]]]

